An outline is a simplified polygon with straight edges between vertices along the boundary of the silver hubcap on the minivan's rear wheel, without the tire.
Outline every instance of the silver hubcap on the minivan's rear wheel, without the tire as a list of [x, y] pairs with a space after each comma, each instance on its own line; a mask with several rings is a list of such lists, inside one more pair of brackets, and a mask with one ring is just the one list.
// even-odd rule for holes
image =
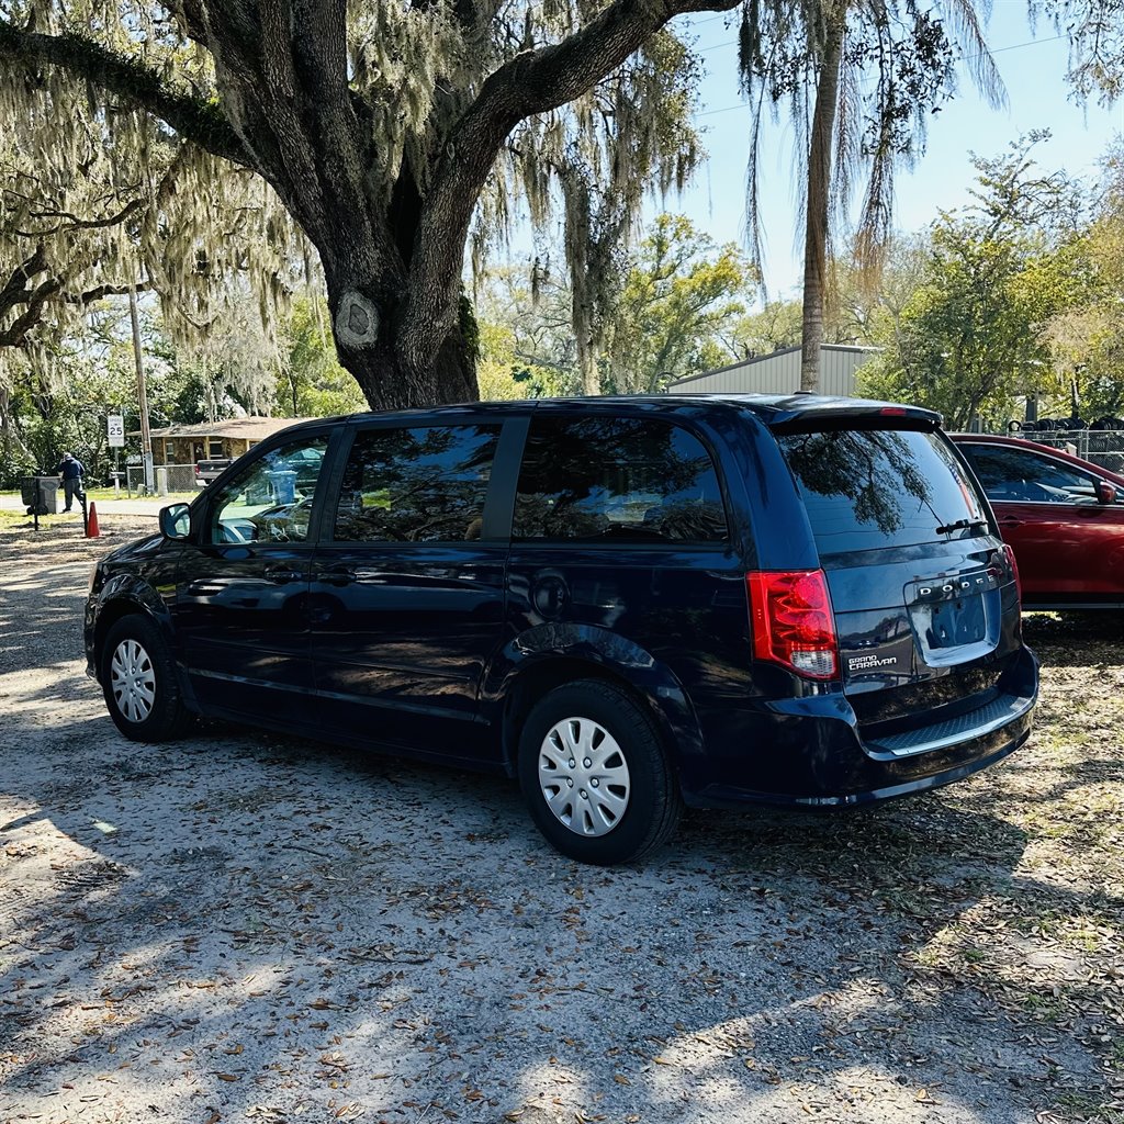
[[575, 835], [605, 835], [628, 807], [628, 765], [613, 735], [591, 718], [563, 718], [538, 750], [546, 807]]

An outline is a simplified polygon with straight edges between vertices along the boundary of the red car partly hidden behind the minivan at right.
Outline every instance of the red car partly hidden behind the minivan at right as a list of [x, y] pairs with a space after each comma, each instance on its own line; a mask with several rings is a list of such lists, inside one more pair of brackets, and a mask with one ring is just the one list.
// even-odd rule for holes
[[1124, 475], [1021, 437], [949, 436], [1015, 551], [1024, 608], [1124, 608]]

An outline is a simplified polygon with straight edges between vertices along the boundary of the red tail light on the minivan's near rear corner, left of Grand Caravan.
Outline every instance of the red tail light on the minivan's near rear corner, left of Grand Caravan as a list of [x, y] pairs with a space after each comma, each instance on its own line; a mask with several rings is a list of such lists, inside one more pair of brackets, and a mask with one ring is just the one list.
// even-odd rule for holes
[[806, 679], [835, 679], [839, 636], [823, 570], [755, 570], [745, 575], [753, 654]]

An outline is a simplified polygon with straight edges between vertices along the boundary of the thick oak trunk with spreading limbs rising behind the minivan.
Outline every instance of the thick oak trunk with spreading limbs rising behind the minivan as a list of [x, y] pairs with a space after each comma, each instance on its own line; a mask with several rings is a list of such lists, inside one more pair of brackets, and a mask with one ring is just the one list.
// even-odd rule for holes
[[439, 56], [430, 61], [443, 111], [424, 129], [404, 126], [409, 143], [398, 157], [387, 144], [387, 115], [408, 115], [392, 82], [356, 81], [347, 0], [174, 0], [176, 31], [214, 61], [214, 90], [200, 96], [84, 35], [46, 34], [38, 19], [19, 26], [10, 6], [0, 6], [0, 63], [36, 80], [44, 65], [61, 67], [265, 179], [319, 251], [341, 362], [372, 408], [428, 406], [477, 397], [474, 345], [460, 309], [464, 246], [516, 126], [592, 89], [674, 16], [737, 3], [608, 0], [596, 13], [583, 9], [558, 42], [547, 36], [511, 53], [504, 18], [488, 6], [446, 11], [419, 2], [419, 20], [441, 8], [465, 44], [481, 35], [505, 42], [500, 61], [463, 83], [459, 72], [471, 67], [455, 52], [457, 76], [442, 74]]

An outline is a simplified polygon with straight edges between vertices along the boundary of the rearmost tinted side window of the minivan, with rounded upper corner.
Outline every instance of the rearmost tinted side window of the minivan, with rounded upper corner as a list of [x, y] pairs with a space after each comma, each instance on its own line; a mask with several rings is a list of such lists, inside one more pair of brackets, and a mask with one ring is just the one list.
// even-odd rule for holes
[[726, 514], [710, 455], [686, 429], [651, 418], [538, 418], [513, 535], [715, 543], [726, 538]]

